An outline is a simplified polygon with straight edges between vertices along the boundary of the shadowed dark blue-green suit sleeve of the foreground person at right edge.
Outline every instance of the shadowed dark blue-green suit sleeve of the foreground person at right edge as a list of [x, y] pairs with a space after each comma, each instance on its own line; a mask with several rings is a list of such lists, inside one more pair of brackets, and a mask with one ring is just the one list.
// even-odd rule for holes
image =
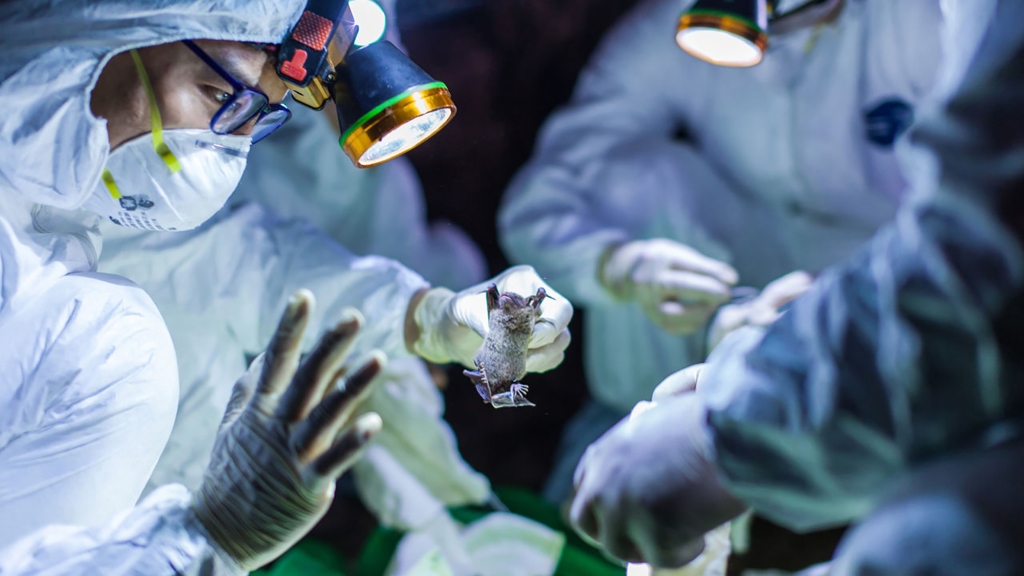
[[1024, 435], [1024, 3], [959, 4], [947, 48], [970, 68], [915, 130], [932, 154], [895, 222], [701, 376], [730, 490], [792, 527], [847, 522], [911, 465]]

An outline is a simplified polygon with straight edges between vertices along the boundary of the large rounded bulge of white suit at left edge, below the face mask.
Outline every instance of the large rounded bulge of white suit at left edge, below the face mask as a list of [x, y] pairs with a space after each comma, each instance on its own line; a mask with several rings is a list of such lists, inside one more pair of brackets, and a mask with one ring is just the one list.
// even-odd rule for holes
[[24, 301], [0, 340], [0, 547], [135, 505], [178, 393], [174, 347], [145, 293], [66, 276]]

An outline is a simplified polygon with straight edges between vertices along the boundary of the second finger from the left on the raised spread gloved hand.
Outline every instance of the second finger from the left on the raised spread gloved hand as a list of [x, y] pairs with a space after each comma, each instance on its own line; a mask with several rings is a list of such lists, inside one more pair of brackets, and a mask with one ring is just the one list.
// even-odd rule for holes
[[295, 373], [278, 405], [276, 416], [286, 422], [302, 420], [335, 380], [345, 355], [362, 325], [362, 315], [349, 311], [333, 330], [321, 336], [319, 342]]

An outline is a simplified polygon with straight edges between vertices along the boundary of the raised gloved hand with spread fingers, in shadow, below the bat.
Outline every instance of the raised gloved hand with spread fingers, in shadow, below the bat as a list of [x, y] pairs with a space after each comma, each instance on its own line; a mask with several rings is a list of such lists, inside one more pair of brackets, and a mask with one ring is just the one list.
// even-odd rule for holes
[[312, 306], [306, 290], [292, 297], [267, 352], [236, 384], [193, 501], [210, 539], [246, 570], [281, 556], [313, 527], [331, 504], [334, 481], [381, 428], [374, 413], [345, 428], [385, 362], [381, 353], [344, 386], [334, 385], [346, 373], [358, 313], [299, 364]]

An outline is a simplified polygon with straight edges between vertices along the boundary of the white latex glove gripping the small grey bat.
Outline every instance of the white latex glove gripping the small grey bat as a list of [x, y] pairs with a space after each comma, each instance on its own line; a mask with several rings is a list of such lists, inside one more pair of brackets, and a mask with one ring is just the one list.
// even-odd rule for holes
[[527, 372], [546, 372], [562, 363], [569, 345], [568, 324], [572, 304], [548, 286], [531, 266], [514, 266], [492, 280], [455, 293], [433, 288], [410, 304], [413, 323], [407, 322], [410, 349], [430, 362], [458, 362], [474, 367], [473, 357], [483, 343], [487, 328], [487, 298], [492, 283], [499, 292], [522, 296], [544, 288], [548, 298], [541, 302], [541, 317], [534, 325], [526, 356]]

